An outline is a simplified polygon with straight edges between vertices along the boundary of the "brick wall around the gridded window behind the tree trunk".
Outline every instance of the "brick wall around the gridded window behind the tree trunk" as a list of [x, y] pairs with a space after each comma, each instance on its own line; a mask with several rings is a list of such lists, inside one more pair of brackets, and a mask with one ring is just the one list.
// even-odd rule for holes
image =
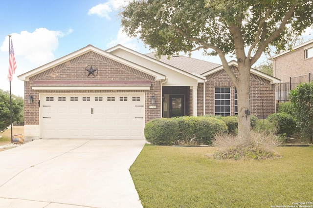
[[[233, 72], [238, 75], [237, 68], [233, 67]], [[230, 87], [231, 89], [231, 115], [234, 115], [234, 84], [224, 70], [218, 71], [207, 76], [205, 83], [205, 114], [214, 115], [214, 89], [215, 87]], [[258, 118], [263, 118], [262, 100], [264, 117], [275, 113], [275, 88], [268, 80], [251, 74], [250, 77], [250, 113]]]

